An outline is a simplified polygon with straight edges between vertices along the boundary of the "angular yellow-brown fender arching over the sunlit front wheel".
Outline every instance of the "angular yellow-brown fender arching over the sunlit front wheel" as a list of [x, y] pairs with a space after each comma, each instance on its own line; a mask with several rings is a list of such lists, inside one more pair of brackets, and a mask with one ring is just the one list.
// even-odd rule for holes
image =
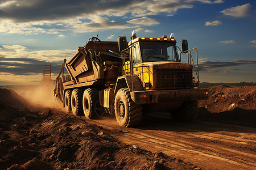
[[115, 83], [115, 90], [114, 94], [120, 88], [129, 88], [129, 91], [139, 91], [143, 90], [141, 80], [139, 79], [138, 75], [123, 75], [117, 78], [117, 83]]

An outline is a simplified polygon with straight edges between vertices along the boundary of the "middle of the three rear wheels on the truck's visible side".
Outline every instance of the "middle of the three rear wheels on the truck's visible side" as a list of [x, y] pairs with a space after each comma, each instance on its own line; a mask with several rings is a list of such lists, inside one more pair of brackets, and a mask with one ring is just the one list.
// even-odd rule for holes
[[72, 91], [71, 109], [76, 116], [82, 115], [82, 90], [76, 88]]

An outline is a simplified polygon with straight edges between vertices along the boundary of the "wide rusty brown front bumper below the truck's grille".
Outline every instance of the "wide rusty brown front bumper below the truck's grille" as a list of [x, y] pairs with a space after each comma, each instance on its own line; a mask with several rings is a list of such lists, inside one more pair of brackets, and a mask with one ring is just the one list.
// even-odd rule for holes
[[185, 90], [146, 90], [131, 92], [131, 99], [137, 104], [173, 103], [208, 99], [207, 88]]

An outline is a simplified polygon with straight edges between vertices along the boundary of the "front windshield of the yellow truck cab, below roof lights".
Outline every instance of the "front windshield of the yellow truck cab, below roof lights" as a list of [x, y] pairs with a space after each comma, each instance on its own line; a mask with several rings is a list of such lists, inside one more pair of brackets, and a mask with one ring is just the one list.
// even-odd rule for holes
[[179, 61], [176, 46], [172, 42], [141, 42], [141, 56], [143, 62], [151, 61]]

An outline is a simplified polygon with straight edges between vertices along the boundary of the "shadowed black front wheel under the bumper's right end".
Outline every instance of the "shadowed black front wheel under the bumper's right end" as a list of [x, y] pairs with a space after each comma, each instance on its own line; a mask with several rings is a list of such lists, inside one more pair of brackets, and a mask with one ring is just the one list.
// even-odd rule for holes
[[172, 118], [175, 121], [192, 122], [196, 119], [198, 113], [198, 101], [187, 101], [174, 111], [171, 111]]

